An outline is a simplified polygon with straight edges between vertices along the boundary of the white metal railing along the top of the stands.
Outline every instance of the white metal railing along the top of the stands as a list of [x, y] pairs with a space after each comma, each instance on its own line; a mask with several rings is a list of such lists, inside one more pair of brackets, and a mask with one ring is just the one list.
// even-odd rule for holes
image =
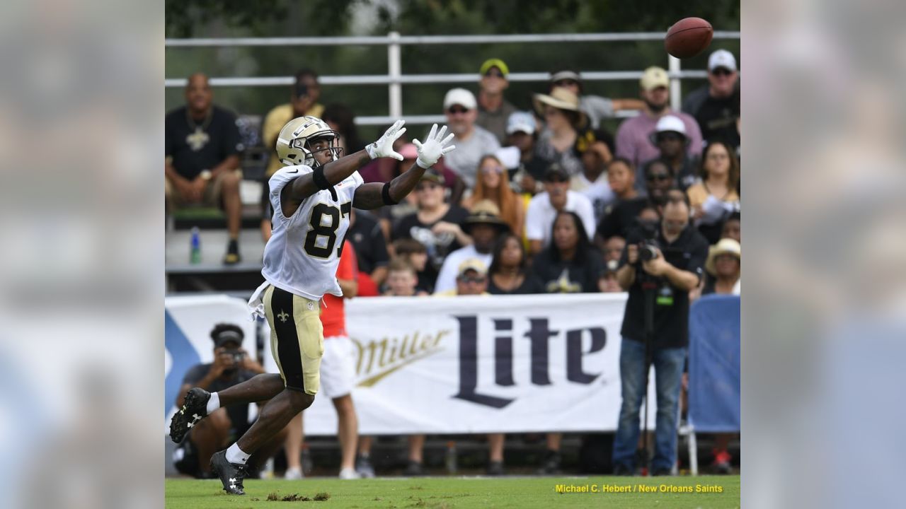
[[[234, 47], [234, 46], [341, 46], [341, 45], [384, 45], [387, 46], [387, 74], [321, 76], [318, 81], [325, 85], [387, 85], [390, 95], [388, 116], [356, 117], [359, 125], [383, 125], [393, 119], [404, 118], [413, 124], [432, 123], [445, 120], [443, 115], [404, 115], [402, 111], [402, 85], [413, 83], [475, 83], [480, 76], [467, 74], [403, 74], [400, 46], [404, 44], [479, 44], [479, 43], [592, 43], [616, 41], [657, 41], [664, 32], [633, 32], [625, 34], [512, 34], [512, 35], [387, 35], [352, 37], [234, 37], [221, 39], [165, 39], [168, 48], [192, 47]], [[739, 39], [739, 32], [717, 31], [714, 39]], [[641, 71], [591, 71], [581, 72], [584, 81], [638, 80]], [[680, 61], [668, 55], [670, 75], [670, 106], [679, 110], [681, 102], [680, 81], [687, 78], [705, 78], [705, 71], [683, 71]], [[511, 82], [546, 82], [547, 72], [512, 72], [507, 76]], [[211, 78], [214, 87], [271, 87], [289, 86], [293, 76], [270, 77], [224, 77]], [[183, 87], [186, 78], [164, 80], [165, 87]], [[618, 116], [628, 117], [631, 111], [618, 111]]]

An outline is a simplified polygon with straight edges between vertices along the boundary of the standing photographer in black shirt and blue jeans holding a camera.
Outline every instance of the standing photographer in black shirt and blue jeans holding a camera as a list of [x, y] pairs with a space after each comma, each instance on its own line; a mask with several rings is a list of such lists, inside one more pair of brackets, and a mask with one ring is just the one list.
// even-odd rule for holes
[[[689, 226], [689, 210], [686, 194], [670, 189], [660, 206], [660, 224], [642, 223], [627, 235], [617, 270], [629, 301], [620, 331], [622, 406], [613, 438], [614, 475], [635, 474], [639, 411], [652, 363], [658, 409], [651, 475], [670, 475], [676, 464], [679, 387], [689, 345], [689, 291], [699, 285], [708, 257], [708, 241]], [[647, 460], [647, 450], [641, 456]]]

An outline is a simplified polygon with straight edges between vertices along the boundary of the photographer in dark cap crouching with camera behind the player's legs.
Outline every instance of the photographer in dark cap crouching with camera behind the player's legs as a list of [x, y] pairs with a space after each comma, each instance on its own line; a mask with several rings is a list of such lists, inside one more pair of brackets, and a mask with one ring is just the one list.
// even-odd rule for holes
[[[265, 369], [242, 348], [245, 332], [232, 323], [218, 323], [211, 331], [214, 341], [214, 362], [196, 364], [188, 369], [179, 388], [176, 407], [182, 408], [188, 389], [200, 387], [217, 392], [242, 383]], [[264, 407], [266, 401], [258, 404]], [[248, 405], [229, 405], [217, 408], [207, 418], [191, 428], [173, 454], [179, 472], [199, 479], [213, 478], [210, 474], [211, 456], [226, 447], [231, 437], [239, 437], [252, 426], [248, 418]], [[252, 455], [248, 465], [260, 468], [280, 450], [286, 429], [271, 438], [265, 446]]]

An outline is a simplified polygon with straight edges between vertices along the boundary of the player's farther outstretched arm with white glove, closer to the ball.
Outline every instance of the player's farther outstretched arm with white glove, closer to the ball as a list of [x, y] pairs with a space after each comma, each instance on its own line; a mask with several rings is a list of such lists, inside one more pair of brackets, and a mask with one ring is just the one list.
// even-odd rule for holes
[[437, 164], [441, 156], [456, 149], [456, 145], [448, 145], [453, 139], [453, 133], [444, 138], [446, 132], [447, 126], [440, 128], [438, 131], [438, 124], [434, 124], [424, 143], [418, 139], [413, 139], [412, 143], [419, 150], [419, 158], [415, 160], [415, 164], [401, 175], [390, 180], [389, 185], [381, 184], [380, 182], [361, 185], [355, 191], [352, 206], [371, 209], [399, 203], [401, 199], [412, 192], [415, 185], [419, 183], [421, 176], [425, 174], [426, 169]]

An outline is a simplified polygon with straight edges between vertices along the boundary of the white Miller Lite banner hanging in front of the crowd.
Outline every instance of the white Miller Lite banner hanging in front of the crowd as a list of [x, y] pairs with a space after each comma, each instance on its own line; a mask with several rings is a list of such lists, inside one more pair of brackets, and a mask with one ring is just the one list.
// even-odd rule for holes
[[[359, 432], [615, 430], [625, 304], [626, 293], [347, 301]], [[654, 383], [652, 375], [651, 428]], [[336, 434], [323, 395], [305, 410], [304, 429]]]

